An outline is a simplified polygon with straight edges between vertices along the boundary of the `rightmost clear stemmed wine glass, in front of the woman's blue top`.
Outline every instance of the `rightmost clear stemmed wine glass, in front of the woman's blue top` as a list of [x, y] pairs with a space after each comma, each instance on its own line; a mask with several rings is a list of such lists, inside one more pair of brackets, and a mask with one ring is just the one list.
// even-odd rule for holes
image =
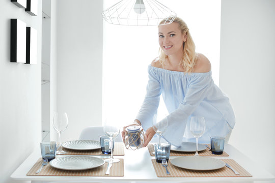
[[199, 137], [201, 137], [205, 131], [204, 117], [192, 116], [191, 120], [190, 120], [190, 131], [196, 138], [196, 154], [195, 154], [195, 156], [199, 156], [199, 154], [198, 154]]

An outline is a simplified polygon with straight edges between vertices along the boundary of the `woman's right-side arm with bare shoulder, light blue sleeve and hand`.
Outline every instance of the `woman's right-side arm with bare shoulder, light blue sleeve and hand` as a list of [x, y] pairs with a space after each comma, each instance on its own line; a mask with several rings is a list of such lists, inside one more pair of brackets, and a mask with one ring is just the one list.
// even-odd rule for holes
[[[168, 120], [168, 128], [163, 137], [171, 144], [180, 145], [188, 117], [201, 103], [208, 88], [213, 84], [211, 73], [209, 73], [210, 70], [211, 64], [207, 57], [198, 53], [197, 63], [194, 68], [195, 73], [189, 78], [187, 92], [183, 101], [181, 101], [179, 107], [174, 112], [167, 116], [167, 119], [162, 119]], [[162, 120], [159, 123], [162, 123]], [[152, 127], [148, 128], [145, 134], [147, 138], [144, 146], [150, 142], [154, 134], [154, 129]]]

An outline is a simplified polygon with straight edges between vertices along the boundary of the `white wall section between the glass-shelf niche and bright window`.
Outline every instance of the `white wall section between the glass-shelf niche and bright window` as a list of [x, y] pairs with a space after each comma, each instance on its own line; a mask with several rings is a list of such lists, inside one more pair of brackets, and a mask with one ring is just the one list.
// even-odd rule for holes
[[102, 10], [103, 1], [57, 1], [57, 110], [69, 118], [63, 141], [101, 125]]

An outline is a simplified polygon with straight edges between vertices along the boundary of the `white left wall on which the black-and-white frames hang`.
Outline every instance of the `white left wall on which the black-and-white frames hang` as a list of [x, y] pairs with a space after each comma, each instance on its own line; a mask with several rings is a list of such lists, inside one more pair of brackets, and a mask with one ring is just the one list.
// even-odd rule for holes
[[[10, 62], [11, 18], [37, 29], [36, 65]], [[38, 16], [0, 1], [0, 25], [0, 182], [13, 182], [10, 175], [41, 141], [41, 1]]]

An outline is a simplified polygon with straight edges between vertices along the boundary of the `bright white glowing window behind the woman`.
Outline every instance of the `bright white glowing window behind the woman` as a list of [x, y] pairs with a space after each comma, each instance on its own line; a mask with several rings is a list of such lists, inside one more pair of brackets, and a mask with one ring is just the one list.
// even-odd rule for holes
[[[218, 85], [221, 1], [159, 2], [187, 23], [196, 51], [210, 60], [212, 77]], [[104, 9], [115, 3], [104, 0]], [[102, 122], [112, 116], [121, 127], [133, 122], [146, 94], [147, 67], [158, 56], [158, 48], [157, 26], [123, 26], [103, 21]], [[165, 114], [168, 112], [160, 97], [158, 116]]]

